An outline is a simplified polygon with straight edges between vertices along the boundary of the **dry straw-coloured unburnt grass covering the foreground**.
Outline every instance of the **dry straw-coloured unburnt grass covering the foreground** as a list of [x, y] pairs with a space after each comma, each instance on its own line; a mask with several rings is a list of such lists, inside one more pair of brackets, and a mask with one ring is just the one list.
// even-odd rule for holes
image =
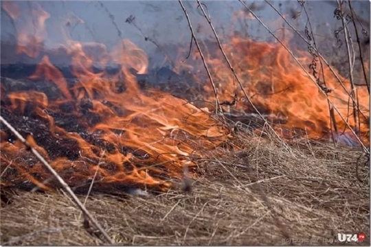
[[[287, 244], [282, 227], [292, 239], [312, 239], [305, 245], [359, 232], [370, 244], [370, 174], [361, 151], [288, 145], [243, 130], [230, 145], [243, 151], [199, 161], [190, 193], [174, 181], [157, 196], [91, 195], [87, 209], [117, 244]], [[16, 191], [10, 201], [1, 207], [2, 245], [102, 244], [62, 191]]]

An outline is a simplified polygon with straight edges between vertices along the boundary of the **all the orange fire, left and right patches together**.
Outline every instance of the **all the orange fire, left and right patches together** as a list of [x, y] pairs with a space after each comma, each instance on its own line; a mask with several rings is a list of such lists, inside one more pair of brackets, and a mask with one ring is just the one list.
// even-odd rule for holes
[[[101, 187], [135, 184], [166, 189], [172, 185], [171, 178], [181, 178], [183, 169], [194, 167], [197, 158], [223, 152], [220, 146], [231, 134], [212, 117], [212, 106], [201, 109], [169, 93], [144, 90], [138, 83], [137, 75], [148, 72], [148, 57], [142, 49], [130, 40], [121, 40], [109, 50], [103, 44], [80, 43], [65, 34], [67, 45], [60, 46], [55, 54], [47, 53], [43, 42], [50, 16], [40, 5], [32, 4], [31, 14], [22, 14], [23, 9], [15, 2], [2, 4], [16, 27], [16, 52], [38, 59], [38, 65], [27, 78], [30, 84], [22, 90], [10, 86], [11, 81], [1, 81], [1, 115], [27, 136], [69, 185], [83, 187], [95, 177], [95, 184]], [[32, 21], [23, 20], [25, 16], [34, 19], [34, 34], [27, 33]], [[280, 132], [282, 136], [292, 137], [300, 130], [311, 139], [329, 137], [334, 124], [330, 122], [328, 100], [311, 80], [315, 78], [304, 73], [282, 45], [235, 36], [223, 47], [261, 113], [284, 119], [275, 126], [278, 132], [289, 129]], [[52, 62], [52, 56], [58, 54], [69, 58], [74, 78], [67, 78]], [[236, 94], [238, 100], [232, 110], [240, 115], [254, 113], [220, 51], [210, 49], [207, 54], [221, 102], [231, 101]], [[308, 67], [311, 58], [302, 51], [297, 54]], [[95, 71], [95, 64], [103, 69]], [[119, 71], [109, 73], [104, 69], [109, 64], [119, 64]], [[214, 102], [198, 54], [179, 64], [183, 69], [197, 71], [195, 80], [203, 87], [203, 99]], [[356, 132], [367, 143], [366, 89], [357, 88], [363, 115], [356, 123], [349, 95], [343, 89], [349, 91], [349, 80], [340, 77], [341, 85], [328, 67], [320, 77], [332, 90], [328, 98], [333, 106], [352, 128], [358, 128]], [[40, 89], [34, 86], [37, 82], [43, 82]], [[338, 113], [335, 122], [339, 133], [350, 136]], [[1, 185], [22, 186], [28, 182], [26, 185], [32, 183], [43, 189], [56, 187], [51, 174], [20, 141], [5, 128], [0, 133], [4, 171]]]

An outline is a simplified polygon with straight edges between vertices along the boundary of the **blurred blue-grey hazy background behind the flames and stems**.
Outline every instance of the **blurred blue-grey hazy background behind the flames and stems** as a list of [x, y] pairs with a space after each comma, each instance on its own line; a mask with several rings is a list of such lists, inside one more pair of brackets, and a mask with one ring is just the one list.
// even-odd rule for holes
[[[369, 1], [351, 2], [352, 8], [357, 13], [359, 32], [361, 30], [368, 32]], [[274, 40], [239, 1], [202, 1], [202, 3], [223, 42], [227, 42], [234, 32], [255, 40]], [[290, 27], [268, 3], [265, 1], [245, 3], [280, 38], [286, 35], [295, 39], [294, 32], [289, 30]], [[269, 1], [269, 3], [304, 35], [308, 18], [302, 10], [300, 1]], [[144, 49], [152, 58], [152, 62], [156, 63], [159, 49], [168, 48], [169, 45], [188, 47], [191, 39], [187, 20], [178, 1], [16, 1], [16, 4], [19, 5], [21, 12], [16, 21], [1, 8], [1, 64], [39, 62], [39, 57], [16, 56], [14, 52], [17, 32], [35, 35], [38, 31], [35, 31], [37, 28], [32, 28], [32, 23], [38, 25], [40, 13], [43, 11], [49, 14], [45, 21], [45, 35], [43, 34], [45, 49], [56, 49], [60, 44], [66, 44], [66, 38], [69, 38], [84, 43], [102, 43], [110, 50], [121, 38], [128, 38]], [[197, 31], [197, 38], [214, 39], [209, 24], [201, 10], [197, 8], [196, 1], [183, 1], [183, 4]], [[335, 30], [342, 26], [341, 21], [334, 17], [337, 1], [306, 1], [305, 5], [317, 44], [326, 43], [322, 46], [324, 47], [322, 52], [328, 52], [328, 55], [333, 54], [335, 49], [338, 54], [333, 54], [333, 60], [330, 58], [330, 62], [336, 63], [335, 60], [339, 60], [341, 52], [345, 51], [345, 45], [338, 49], [339, 45], [334, 35]], [[24, 27], [25, 23], [28, 28]], [[340, 38], [344, 38], [344, 34], [340, 35]], [[361, 35], [361, 39], [368, 45], [368, 36]], [[65, 62], [61, 57], [58, 59], [58, 63]]]

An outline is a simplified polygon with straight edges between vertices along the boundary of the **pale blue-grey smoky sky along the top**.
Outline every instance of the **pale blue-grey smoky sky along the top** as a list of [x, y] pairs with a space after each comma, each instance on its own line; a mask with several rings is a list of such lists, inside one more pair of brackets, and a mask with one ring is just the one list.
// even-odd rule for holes
[[[232, 28], [244, 30], [248, 36], [258, 40], [267, 40], [271, 35], [258, 21], [251, 19], [246, 13], [244, 21], [231, 21], [236, 12], [245, 11], [239, 1], [202, 1], [210, 15], [218, 34], [231, 34]], [[298, 30], [304, 30], [306, 16], [295, 17], [301, 7], [297, 1], [270, 1]], [[20, 8], [30, 8], [27, 1], [16, 1]], [[133, 43], [150, 52], [156, 45], [148, 41], [155, 40], [157, 45], [166, 47], [169, 43], [189, 43], [191, 34], [185, 15], [178, 1], [38, 1], [43, 10], [50, 14], [46, 21], [47, 38], [45, 47], [65, 43], [61, 28], [69, 38], [81, 42], [103, 43], [106, 47], [117, 45], [120, 38], [128, 38]], [[247, 5], [276, 34], [285, 25], [280, 16], [264, 1], [246, 1]], [[197, 9], [196, 1], [183, 1], [188, 10], [192, 25], [199, 38], [211, 38], [210, 26]], [[306, 1], [308, 14], [315, 31], [320, 34], [333, 32], [341, 26], [341, 21], [334, 18], [336, 1]], [[369, 28], [370, 3], [368, 1], [352, 1], [352, 7], [363, 21], [366, 30]], [[126, 21], [129, 16], [134, 18], [135, 25]], [[280, 20], [280, 21], [278, 21]], [[366, 20], [366, 21], [365, 21]], [[287, 26], [286, 26], [287, 27]], [[16, 30], [12, 20], [1, 9], [1, 41], [15, 42]]]

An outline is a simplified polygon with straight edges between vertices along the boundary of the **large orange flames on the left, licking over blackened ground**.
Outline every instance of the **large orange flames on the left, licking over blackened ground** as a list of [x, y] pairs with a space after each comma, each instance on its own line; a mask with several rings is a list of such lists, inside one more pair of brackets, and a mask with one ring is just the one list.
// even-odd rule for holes
[[[49, 14], [38, 7], [36, 29], [43, 31]], [[14, 2], [3, 8], [18, 21]], [[17, 26], [19, 47], [28, 44], [23, 28]], [[41, 40], [27, 42], [35, 48]], [[65, 49], [71, 57], [74, 84], [45, 54], [29, 79], [46, 80], [58, 90], [5, 92], [8, 104], [2, 113], [12, 115], [14, 126], [28, 126], [23, 130], [27, 141], [69, 185], [85, 185], [96, 172], [95, 183], [164, 189], [171, 185], [169, 178], [182, 177], [183, 167], [194, 167], [194, 159], [228, 138], [226, 128], [186, 100], [161, 91], [142, 91], [132, 70], [146, 73], [148, 58], [130, 40], [122, 40], [109, 52], [102, 44], [69, 39]], [[36, 57], [38, 49], [22, 51]], [[104, 67], [109, 62], [120, 64], [120, 73], [93, 71], [93, 64]], [[1, 130], [0, 147], [1, 168], [12, 167], [3, 176], [3, 185], [29, 181], [43, 189], [56, 186], [48, 181], [51, 175], [45, 167], [6, 130]]]

